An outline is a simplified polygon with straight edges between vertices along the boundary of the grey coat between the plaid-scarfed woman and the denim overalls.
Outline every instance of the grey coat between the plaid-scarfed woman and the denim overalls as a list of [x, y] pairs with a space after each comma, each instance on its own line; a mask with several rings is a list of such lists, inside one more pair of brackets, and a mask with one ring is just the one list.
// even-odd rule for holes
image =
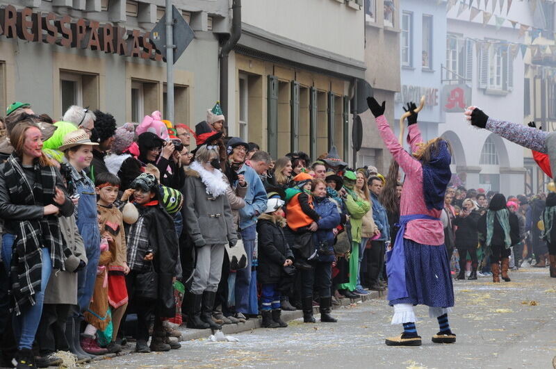
[[74, 215], [58, 218], [60, 231], [72, 254], [64, 261], [65, 271], [54, 270], [50, 275], [44, 304], [77, 304], [77, 273], [79, 262], [87, 263], [83, 238], [77, 230]]

